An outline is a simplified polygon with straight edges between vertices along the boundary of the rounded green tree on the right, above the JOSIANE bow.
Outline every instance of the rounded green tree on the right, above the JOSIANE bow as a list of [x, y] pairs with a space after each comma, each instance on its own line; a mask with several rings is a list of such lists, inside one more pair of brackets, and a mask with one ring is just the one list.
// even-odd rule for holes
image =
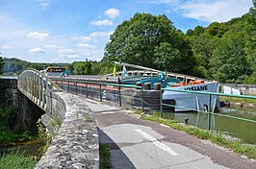
[[227, 36], [222, 38], [214, 52], [214, 77], [222, 83], [242, 83], [249, 73], [243, 38]]

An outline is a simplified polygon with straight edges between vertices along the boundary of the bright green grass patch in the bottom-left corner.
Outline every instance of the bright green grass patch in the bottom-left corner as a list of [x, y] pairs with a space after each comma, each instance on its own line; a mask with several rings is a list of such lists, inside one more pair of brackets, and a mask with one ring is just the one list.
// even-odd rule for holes
[[24, 157], [23, 154], [12, 152], [0, 157], [0, 169], [33, 169], [37, 160], [33, 157]]

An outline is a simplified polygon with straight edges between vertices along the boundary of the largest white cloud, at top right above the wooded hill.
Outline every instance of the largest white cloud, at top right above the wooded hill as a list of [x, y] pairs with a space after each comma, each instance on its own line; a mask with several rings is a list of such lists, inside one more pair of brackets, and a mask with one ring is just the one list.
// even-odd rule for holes
[[225, 22], [248, 12], [251, 0], [192, 0], [182, 3], [179, 10], [185, 17], [205, 22]]

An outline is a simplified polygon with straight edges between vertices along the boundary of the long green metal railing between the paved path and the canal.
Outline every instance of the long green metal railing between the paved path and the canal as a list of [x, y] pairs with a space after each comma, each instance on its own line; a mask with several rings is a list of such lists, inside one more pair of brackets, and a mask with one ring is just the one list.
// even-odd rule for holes
[[[161, 90], [158, 92], [159, 97], [158, 102], [155, 102], [154, 105], [150, 105], [146, 101], [146, 91], [141, 86], [131, 85], [131, 84], [111, 84], [111, 83], [94, 83], [94, 82], [88, 82], [88, 81], [77, 81], [77, 80], [69, 80], [69, 79], [60, 79], [60, 78], [52, 78], [52, 80], [59, 84], [64, 90], [71, 92], [73, 94], [83, 94], [86, 95], [86, 97], [91, 99], [98, 99], [100, 102], [104, 101], [110, 101], [115, 102], [117, 105], [122, 106], [125, 105], [126, 107], [132, 107], [136, 109], [150, 109], [153, 108], [154, 110], [159, 109], [161, 112], [161, 116], [163, 116], [164, 109], [163, 107], [176, 107], [175, 105], [168, 105], [166, 103], [163, 103], [163, 95], [162, 93], [166, 90], [175, 91], [175, 92], [187, 92], [187, 93], [194, 93], [194, 94], [202, 94], [202, 95], [208, 95], [209, 97], [209, 108], [211, 108], [211, 105], [213, 104], [213, 96], [228, 96], [228, 97], [239, 97], [239, 98], [247, 98], [247, 99], [256, 99], [256, 96], [248, 96], [248, 95], [235, 95], [235, 94], [223, 94], [223, 93], [215, 93], [215, 92], [204, 92], [204, 91], [190, 91], [190, 90], [177, 90], [175, 88], [161, 88]], [[138, 95], [131, 95], [131, 93], [126, 92], [130, 88], [132, 90], [136, 90]], [[148, 94], [148, 93], [147, 93]], [[155, 95], [156, 96], [156, 95]], [[110, 99], [111, 97], [115, 99]], [[124, 100], [130, 99], [129, 104], [125, 102]], [[154, 98], [149, 98], [151, 101]], [[131, 101], [133, 100], [133, 101]], [[131, 102], [133, 102], [131, 104]], [[136, 104], [137, 103], [137, 104]], [[186, 108], [184, 108], [186, 109]], [[188, 110], [194, 110], [198, 111], [198, 109], [188, 109]], [[256, 123], [255, 120], [252, 119], [246, 119], [242, 117], [217, 113], [212, 111], [211, 109], [208, 109], [207, 112], [205, 111], [198, 111], [198, 113], [206, 113], [208, 115], [207, 120], [207, 129], [211, 130], [212, 127], [212, 116], [222, 116], [237, 120], [242, 120], [250, 123]]]

